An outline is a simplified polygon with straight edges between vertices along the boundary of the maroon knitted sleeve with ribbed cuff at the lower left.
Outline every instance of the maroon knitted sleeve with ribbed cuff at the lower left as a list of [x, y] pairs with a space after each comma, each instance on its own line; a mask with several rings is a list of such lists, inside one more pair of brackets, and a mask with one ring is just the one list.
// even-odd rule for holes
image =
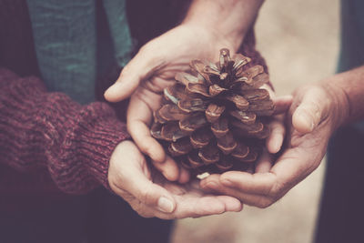
[[80, 106], [46, 92], [36, 77], [0, 68], [0, 163], [18, 171], [46, 168], [57, 187], [86, 193], [108, 187], [108, 161], [128, 138], [106, 103]]

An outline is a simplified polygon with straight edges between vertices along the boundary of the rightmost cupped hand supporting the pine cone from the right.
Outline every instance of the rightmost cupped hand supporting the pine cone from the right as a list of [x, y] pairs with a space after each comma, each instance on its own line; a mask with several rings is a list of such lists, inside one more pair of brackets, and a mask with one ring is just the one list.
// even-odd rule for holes
[[274, 157], [266, 154], [254, 173], [211, 175], [200, 185], [244, 204], [267, 208], [319, 167], [329, 137], [346, 116], [348, 101], [338, 87], [329, 82], [300, 87], [293, 94], [286, 119], [287, 141], [275, 163]]

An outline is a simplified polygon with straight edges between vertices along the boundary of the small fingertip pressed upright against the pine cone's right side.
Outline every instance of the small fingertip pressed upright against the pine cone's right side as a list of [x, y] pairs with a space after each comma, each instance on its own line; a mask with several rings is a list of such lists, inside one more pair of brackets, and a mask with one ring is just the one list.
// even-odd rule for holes
[[268, 152], [276, 154], [282, 147], [284, 137], [286, 135], [286, 129], [283, 124], [283, 116], [278, 116], [269, 124], [270, 134], [266, 140]]

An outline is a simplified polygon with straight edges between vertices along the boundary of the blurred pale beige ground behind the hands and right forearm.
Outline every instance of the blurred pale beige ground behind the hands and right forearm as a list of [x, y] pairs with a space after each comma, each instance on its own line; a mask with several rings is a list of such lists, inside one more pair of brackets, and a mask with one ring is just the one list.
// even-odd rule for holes
[[[335, 72], [339, 54], [339, 0], [274, 0], [256, 25], [278, 95]], [[173, 243], [308, 243], [315, 232], [325, 163], [266, 209], [177, 221]]]

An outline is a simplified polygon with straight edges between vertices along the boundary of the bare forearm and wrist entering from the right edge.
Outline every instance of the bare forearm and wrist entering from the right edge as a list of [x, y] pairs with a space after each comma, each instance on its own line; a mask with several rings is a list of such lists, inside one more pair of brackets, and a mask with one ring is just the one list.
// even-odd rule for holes
[[339, 107], [339, 125], [364, 119], [364, 66], [323, 81]]

